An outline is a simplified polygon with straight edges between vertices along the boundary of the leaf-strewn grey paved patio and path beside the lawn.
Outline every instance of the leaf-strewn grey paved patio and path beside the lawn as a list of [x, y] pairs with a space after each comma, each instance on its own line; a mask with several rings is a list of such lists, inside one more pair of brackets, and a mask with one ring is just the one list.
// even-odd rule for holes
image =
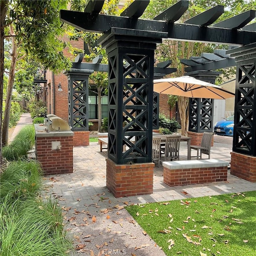
[[[186, 144], [181, 146], [180, 154], [184, 158], [186, 147]], [[229, 161], [231, 150], [230, 143], [215, 142], [211, 157]], [[75, 147], [74, 173], [44, 178], [48, 196], [59, 199], [74, 247], [80, 247], [74, 255], [164, 256], [155, 242], [143, 234], [124, 206], [256, 190], [255, 183], [230, 173], [227, 182], [168, 187], [163, 183], [162, 172], [161, 167], [154, 169], [153, 194], [114, 198], [106, 188], [106, 152], [100, 153], [97, 142]], [[146, 246], [135, 250], [136, 246], [142, 245]]]

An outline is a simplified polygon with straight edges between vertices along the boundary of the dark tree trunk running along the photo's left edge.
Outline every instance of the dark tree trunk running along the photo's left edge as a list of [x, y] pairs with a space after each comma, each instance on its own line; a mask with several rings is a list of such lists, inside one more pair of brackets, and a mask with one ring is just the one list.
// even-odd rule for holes
[[2, 162], [2, 102], [4, 88], [4, 21], [7, 12], [7, 0], [0, 1], [0, 163]]

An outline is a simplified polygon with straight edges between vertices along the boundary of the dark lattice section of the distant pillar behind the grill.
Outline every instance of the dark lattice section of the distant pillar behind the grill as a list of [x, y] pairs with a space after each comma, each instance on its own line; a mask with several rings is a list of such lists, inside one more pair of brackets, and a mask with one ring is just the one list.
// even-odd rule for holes
[[68, 78], [68, 121], [72, 131], [88, 131], [88, 78]]

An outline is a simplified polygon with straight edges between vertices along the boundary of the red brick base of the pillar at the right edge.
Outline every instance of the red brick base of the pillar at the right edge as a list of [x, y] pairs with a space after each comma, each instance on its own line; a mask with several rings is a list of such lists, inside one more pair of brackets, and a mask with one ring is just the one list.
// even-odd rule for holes
[[256, 182], [256, 156], [247, 156], [237, 152], [230, 152], [230, 154], [230, 174], [250, 182]]

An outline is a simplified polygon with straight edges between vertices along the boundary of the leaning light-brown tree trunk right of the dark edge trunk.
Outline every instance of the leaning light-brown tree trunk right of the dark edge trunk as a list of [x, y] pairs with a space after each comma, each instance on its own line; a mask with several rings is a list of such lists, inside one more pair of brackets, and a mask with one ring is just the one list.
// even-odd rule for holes
[[[10, 31], [13, 32], [12, 28], [10, 28]], [[6, 101], [5, 101], [4, 120], [3, 120], [3, 127], [2, 127], [2, 129], [3, 129], [2, 130], [2, 145], [8, 144], [10, 108], [11, 108], [11, 102], [12, 102], [12, 88], [13, 88], [13, 84], [14, 84], [16, 62], [17, 62], [17, 43], [15, 40], [15, 37], [12, 37], [12, 56], [11, 56], [11, 65], [10, 65], [10, 72], [9, 72], [7, 95], [6, 95]]]

